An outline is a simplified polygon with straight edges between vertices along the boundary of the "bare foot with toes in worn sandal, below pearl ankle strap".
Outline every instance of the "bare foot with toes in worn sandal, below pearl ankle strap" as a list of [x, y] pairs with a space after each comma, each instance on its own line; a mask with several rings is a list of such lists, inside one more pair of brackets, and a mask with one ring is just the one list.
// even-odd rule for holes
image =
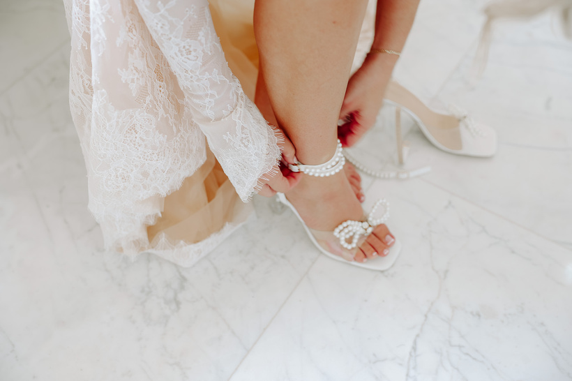
[[[299, 184], [286, 194], [303, 221], [310, 229], [322, 232], [333, 230], [347, 220], [363, 220], [363, 209], [345, 173], [330, 177], [304, 175]], [[353, 258], [357, 262], [384, 257], [395, 243], [395, 237], [386, 225], [377, 225], [365, 241], [356, 248]]]

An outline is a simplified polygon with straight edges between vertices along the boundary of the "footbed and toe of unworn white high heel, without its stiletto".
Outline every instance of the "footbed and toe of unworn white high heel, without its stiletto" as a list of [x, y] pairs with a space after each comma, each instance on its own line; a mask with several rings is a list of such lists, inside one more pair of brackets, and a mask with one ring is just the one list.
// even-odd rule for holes
[[490, 157], [497, 151], [497, 133], [479, 124], [457, 108], [453, 115], [430, 110], [411, 91], [397, 82], [389, 82], [384, 102], [400, 107], [418, 124], [423, 135], [435, 147], [451, 154]]

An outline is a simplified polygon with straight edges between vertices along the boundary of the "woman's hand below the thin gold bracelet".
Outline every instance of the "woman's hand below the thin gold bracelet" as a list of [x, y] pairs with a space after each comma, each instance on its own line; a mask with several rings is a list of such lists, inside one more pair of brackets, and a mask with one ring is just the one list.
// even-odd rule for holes
[[397, 60], [390, 54], [368, 54], [361, 68], [349, 78], [338, 126], [344, 147], [352, 147], [375, 123], [385, 89]]

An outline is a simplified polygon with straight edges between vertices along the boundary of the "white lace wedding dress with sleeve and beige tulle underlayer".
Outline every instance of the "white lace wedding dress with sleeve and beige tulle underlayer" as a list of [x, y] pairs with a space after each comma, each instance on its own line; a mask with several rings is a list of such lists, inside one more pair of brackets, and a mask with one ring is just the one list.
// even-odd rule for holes
[[246, 220], [241, 200], [280, 156], [248, 97], [254, 0], [64, 3], [70, 109], [105, 247], [190, 266]]

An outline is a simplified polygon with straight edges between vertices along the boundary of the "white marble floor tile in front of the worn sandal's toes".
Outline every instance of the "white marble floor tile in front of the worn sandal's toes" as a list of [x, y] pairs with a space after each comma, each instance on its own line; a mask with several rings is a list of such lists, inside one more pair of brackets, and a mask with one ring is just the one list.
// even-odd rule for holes
[[419, 179], [377, 195], [395, 266], [320, 257], [231, 380], [572, 377], [570, 251]]

